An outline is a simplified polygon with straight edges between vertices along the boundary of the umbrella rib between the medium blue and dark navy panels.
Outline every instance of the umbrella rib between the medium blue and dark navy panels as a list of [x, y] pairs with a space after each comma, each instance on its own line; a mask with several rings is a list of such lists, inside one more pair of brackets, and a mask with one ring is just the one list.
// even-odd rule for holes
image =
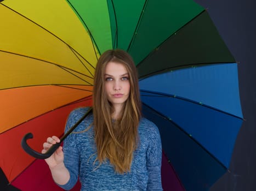
[[175, 127], [177, 127], [181, 132], [183, 132], [184, 134], [186, 134], [190, 139], [192, 139], [198, 146], [200, 146], [206, 153], [209, 154], [209, 156], [211, 156], [214, 160], [216, 160], [221, 166], [223, 166], [224, 169], [227, 169], [226, 166], [221, 163], [215, 156], [213, 156], [212, 153], [210, 153], [209, 151], [206, 150], [206, 148], [204, 148], [200, 142], [198, 142], [196, 139], [194, 139], [189, 133], [185, 132], [185, 130], [183, 128], [181, 128], [177, 123], [175, 123], [174, 121], [172, 121], [169, 117], [163, 115], [161, 112], [156, 111], [155, 109], [151, 108], [149, 105], [143, 103], [143, 105], [145, 105], [147, 108], [149, 108], [150, 110], [152, 110], [153, 112], [155, 112], [155, 114], [161, 118], [163, 118], [164, 120], [169, 121], [170, 123], [173, 123]]

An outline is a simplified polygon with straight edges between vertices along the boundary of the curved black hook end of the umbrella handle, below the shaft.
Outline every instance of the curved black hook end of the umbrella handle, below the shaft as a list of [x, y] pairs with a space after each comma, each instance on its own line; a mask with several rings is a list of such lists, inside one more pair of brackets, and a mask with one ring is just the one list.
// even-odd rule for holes
[[54, 144], [52, 147], [50, 147], [46, 153], [39, 153], [33, 150], [29, 145], [27, 145], [27, 140], [32, 139], [33, 134], [32, 133], [27, 133], [21, 140], [21, 146], [26, 151], [27, 154], [30, 154], [32, 157], [38, 158], [38, 159], [45, 159], [49, 158], [55, 151], [56, 149], [60, 146], [61, 142], [57, 142]]

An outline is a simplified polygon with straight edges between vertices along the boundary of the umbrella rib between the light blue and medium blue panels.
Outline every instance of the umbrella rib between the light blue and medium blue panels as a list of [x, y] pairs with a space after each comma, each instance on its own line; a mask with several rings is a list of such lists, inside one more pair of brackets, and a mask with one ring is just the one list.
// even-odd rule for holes
[[235, 116], [234, 114], [230, 114], [230, 113], [228, 113], [228, 112], [219, 110], [219, 109], [217, 109], [217, 108], [213, 108], [212, 106], [203, 104], [203, 103], [201, 103], [201, 102], [196, 102], [196, 101], [194, 101], [194, 100], [187, 99], [187, 98], [184, 98], [184, 97], [181, 97], [181, 96], [176, 96], [176, 95], [167, 94], [167, 93], [160, 93], [160, 92], [147, 91], [147, 90], [143, 90], [143, 89], [141, 89], [140, 92], [151, 93], [151, 94], [156, 94], [156, 95], [157, 95], [157, 96], [156, 96], [156, 95], [141, 95], [141, 96], [146, 96], [146, 97], [169, 97], [169, 98], [176, 98], [176, 99], [184, 100], [185, 102], [190, 102], [190, 103], [194, 103], [194, 104], [197, 104], [197, 105], [201, 105], [201, 106], [203, 106], [203, 107], [205, 107], [205, 108], [209, 108], [209, 109], [212, 109], [212, 110], [221, 112], [221, 113], [223, 113], [223, 114], [226, 114], [226, 115], [229, 115], [229, 116], [232, 116], [232, 117], [236, 117], [236, 118], [238, 118], [238, 119], [240, 119], [240, 120], [244, 120], [243, 118], [238, 117], [238, 116]]

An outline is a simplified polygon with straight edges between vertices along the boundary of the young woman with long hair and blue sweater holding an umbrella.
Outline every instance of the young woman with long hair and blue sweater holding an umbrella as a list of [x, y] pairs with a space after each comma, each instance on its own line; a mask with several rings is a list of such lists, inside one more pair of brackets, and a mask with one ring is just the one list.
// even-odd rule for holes
[[[138, 75], [132, 57], [108, 50], [95, 69], [93, 113], [45, 159], [54, 181], [69, 190], [162, 190], [160, 134], [141, 118]], [[88, 108], [71, 112], [65, 132]], [[43, 144], [45, 153], [56, 136]]]

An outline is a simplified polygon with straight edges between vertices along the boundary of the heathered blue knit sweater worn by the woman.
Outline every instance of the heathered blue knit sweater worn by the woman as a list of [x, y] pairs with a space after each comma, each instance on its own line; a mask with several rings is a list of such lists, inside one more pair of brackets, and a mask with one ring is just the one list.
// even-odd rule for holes
[[[88, 110], [79, 108], [71, 112], [66, 129], [69, 130]], [[93, 122], [89, 114], [75, 132], [80, 132]], [[106, 160], [99, 165], [96, 159], [96, 145], [93, 127], [84, 133], [72, 133], [64, 141], [64, 163], [70, 172], [70, 180], [59, 185], [65, 190], [75, 186], [78, 176], [81, 190], [162, 190], [160, 134], [155, 124], [142, 118], [139, 123], [140, 144], [134, 151], [130, 172], [117, 174]]]

